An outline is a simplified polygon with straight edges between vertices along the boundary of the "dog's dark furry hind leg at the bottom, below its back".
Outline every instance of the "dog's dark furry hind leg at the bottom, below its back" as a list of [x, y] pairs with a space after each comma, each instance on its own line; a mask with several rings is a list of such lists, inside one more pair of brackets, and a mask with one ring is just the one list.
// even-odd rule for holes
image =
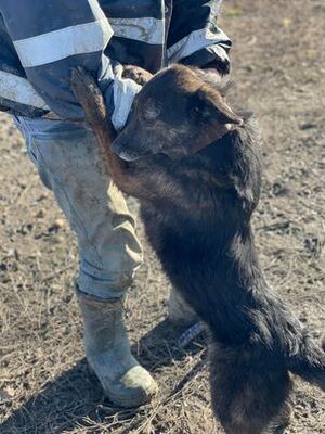
[[213, 410], [227, 434], [274, 434], [288, 424], [290, 378], [265, 352], [213, 343], [210, 382]]

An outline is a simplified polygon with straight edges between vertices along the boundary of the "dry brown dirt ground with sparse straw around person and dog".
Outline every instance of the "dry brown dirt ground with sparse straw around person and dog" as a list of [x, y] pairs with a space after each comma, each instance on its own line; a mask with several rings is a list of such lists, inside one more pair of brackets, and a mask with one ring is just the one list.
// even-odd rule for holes
[[[325, 324], [324, 16], [323, 0], [229, 0], [220, 21], [234, 41], [236, 92], [257, 113], [264, 140], [255, 217], [262, 265], [316, 340]], [[205, 341], [177, 347], [169, 284], [146, 244], [128, 327], [160, 394], [138, 411], [103, 398], [81, 348], [76, 240], [5, 115], [0, 155], [1, 434], [223, 433], [211, 417]], [[295, 401], [286, 433], [324, 434], [324, 394], [297, 381]]]

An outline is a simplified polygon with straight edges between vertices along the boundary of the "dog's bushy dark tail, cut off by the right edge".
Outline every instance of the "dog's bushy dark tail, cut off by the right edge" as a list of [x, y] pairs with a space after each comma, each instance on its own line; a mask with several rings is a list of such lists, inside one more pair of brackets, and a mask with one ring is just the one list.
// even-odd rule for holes
[[325, 352], [309, 336], [303, 336], [299, 352], [287, 358], [290, 372], [325, 391]]

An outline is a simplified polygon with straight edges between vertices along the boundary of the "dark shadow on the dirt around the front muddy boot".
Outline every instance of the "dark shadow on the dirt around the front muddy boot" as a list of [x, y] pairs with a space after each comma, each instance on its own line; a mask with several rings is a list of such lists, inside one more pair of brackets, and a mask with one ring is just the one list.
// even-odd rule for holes
[[[176, 328], [165, 320], [133, 345], [140, 362], [155, 373], [162, 367], [171, 366], [191, 354], [202, 350], [202, 345], [192, 344], [186, 352], [177, 346], [182, 328]], [[10, 405], [10, 403], [3, 403]], [[96, 378], [88, 370], [86, 358], [69, 370], [44, 385], [36, 396], [30, 397], [0, 426], [1, 434], [47, 433], [60, 434], [76, 426], [87, 427], [92, 420], [109, 424], [113, 420], [130, 419], [141, 409], [119, 409], [104, 398]], [[107, 419], [108, 418], [108, 419]], [[92, 431], [93, 432], [93, 431]]]

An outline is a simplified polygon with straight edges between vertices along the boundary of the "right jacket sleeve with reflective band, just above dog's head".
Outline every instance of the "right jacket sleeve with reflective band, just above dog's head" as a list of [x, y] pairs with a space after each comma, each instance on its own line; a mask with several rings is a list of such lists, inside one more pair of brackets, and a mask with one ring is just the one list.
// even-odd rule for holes
[[231, 40], [217, 26], [222, 0], [174, 0], [167, 40], [169, 63], [230, 72]]

